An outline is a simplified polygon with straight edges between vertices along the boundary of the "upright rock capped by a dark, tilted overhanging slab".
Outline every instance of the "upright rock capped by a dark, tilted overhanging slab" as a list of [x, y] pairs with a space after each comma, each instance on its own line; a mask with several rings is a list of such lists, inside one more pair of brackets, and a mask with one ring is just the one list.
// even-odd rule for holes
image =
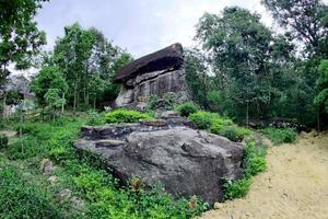
[[122, 67], [116, 74], [116, 82], [122, 83], [116, 106], [136, 106], [167, 92], [175, 93], [178, 102], [188, 100], [183, 62], [183, 46], [174, 44]]

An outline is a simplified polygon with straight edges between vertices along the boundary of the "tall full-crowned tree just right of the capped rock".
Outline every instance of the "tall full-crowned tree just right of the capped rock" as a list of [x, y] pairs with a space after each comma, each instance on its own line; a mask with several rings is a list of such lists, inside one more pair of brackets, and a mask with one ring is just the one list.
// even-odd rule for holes
[[260, 16], [237, 7], [225, 8], [222, 15], [206, 13], [196, 38], [210, 55], [224, 99], [233, 100], [229, 107], [245, 108], [246, 119], [249, 108], [254, 115], [266, 115], [271, 100], [267, 67], [273, 37]]

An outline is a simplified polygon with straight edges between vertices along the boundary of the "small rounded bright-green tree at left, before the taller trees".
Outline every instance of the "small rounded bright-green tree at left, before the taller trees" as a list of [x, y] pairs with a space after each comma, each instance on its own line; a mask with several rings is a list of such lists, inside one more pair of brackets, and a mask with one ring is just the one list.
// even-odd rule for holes
[[65, 81], [62, 71], [58, 67], [44, 67], [32, 81], [32, 91], [35, 93], [37, 103], [43, 108], [51, 104], [51, 108], [57, 107], [58, 102], [63, 104], [65, 99], [62, 97], [61, 101], [57, 101], [59, 97], [56, 97], [56, 95], [63, 96], [67, 90], [68, 84]]

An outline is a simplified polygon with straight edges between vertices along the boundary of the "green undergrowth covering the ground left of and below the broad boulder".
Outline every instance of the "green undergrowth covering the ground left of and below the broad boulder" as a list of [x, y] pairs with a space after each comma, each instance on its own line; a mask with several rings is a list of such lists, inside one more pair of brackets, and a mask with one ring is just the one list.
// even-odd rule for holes
[[[110, 172], [105, 171], [107, 169], [99, 158], [73, 149], [80, 127], [86, 122], [86, 116], [65, 117], [55, 123], [28, 120], [22, 126], [23, 138], [16, 137], [8, 148], [0, 149], [0, 174], [14, 175], [7, 180], [0, 177], [0, 211], [10, 212], [7, 217], [0, 215], [0, 218], [23, 218], [24, 214], [28, 216], [26, 218], [184, 219], [200, 215], [208, 208], [198, 198], [176, 200], [163, 193], [161, 186], [137, 191], [132, 184], [122, 186]], [[16, 123], [10, 126], [19, 128]], [[50, 184], [48, 176], [39, 170], [45, 158], [57, 165], [55, 184]], [[12, 168], [7, 170], [2, 166]], [[30, 176], [25, 178], [24, 175]], [[83, 200], [83, 211], [74, 210], [70, 200], [58, 198], [63, 188], [71, 189]], [[13, 203], [9, 206], [5, 203], [10, 198]], [[194, 207], [190, 207], [190, 201]]]

